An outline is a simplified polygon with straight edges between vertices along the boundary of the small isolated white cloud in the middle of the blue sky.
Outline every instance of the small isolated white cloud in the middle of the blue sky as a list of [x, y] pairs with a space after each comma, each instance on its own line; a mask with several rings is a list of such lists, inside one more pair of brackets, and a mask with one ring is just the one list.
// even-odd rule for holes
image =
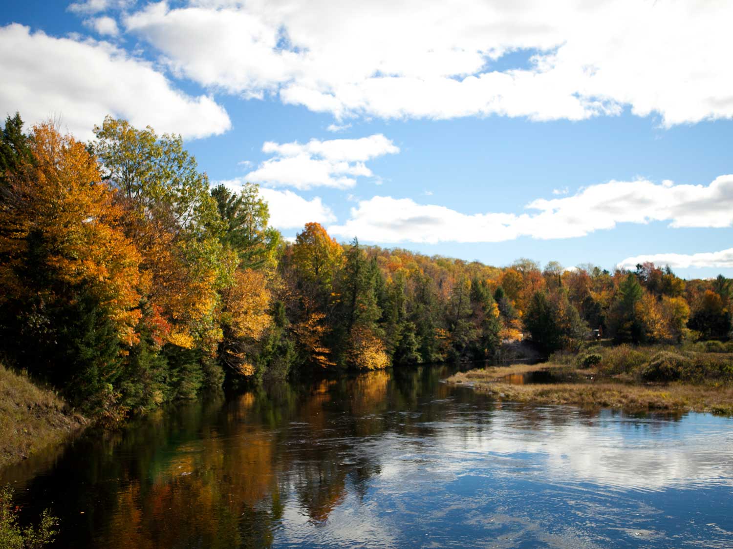
[[331, 139], [308, 143], [274, 143], [266, 141], [262, 152], [273, 154], [246, 180], [270, 186], [296, 189], [335, 187], [347, 189], [356, 184], [356, 177], [371, 177], [364, 163], [384, 154], [397, 154], [399, 148], [382, 134], [359, 139]]

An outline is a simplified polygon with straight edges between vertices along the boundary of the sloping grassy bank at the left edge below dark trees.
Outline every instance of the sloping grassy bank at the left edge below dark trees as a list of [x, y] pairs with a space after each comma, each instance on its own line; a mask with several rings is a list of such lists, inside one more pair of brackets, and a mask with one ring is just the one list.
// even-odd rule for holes
[[59, 444], [87, 424], [54, 392], [0, 365], [0, 467]]

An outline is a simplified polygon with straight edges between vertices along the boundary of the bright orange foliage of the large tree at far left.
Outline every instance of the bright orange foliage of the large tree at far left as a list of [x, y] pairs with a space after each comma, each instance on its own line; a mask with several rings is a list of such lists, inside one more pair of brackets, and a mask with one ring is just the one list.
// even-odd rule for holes
[[38, 291], [62, 299], [52, 285], [29, 287], [28, 269], [44, 269], [62, 286], [84, 285], [114, 321], [119, 341], [135, 343], [141, 257], [122, 231], [114, 191], [100, 183], [84, 143], [51, 124], [34, 127], [30, 146], [33, 162], [11, 174], [0, 206], [0, 304]]

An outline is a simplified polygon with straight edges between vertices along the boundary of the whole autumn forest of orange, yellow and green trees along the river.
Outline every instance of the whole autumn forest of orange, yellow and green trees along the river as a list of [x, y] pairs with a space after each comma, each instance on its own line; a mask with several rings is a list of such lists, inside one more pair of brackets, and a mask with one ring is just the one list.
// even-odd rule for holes
[[0, 141], [0, 359], [114, 423], [223, 384], [493, 359], [530, 338], [727, 340], [732, 280], [564, 269], [336, 242], [268, 225], [257, 185], [213, 186], [178, 135], [108, 117]]

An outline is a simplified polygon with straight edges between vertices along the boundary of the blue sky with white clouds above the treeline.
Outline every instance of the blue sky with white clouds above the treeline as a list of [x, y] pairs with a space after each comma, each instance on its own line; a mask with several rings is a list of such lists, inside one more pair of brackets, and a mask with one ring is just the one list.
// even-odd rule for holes
[[14, 2], [0, 115], [180, 132], [285, 236], [733, 276], [731, 7], [445, 4]]

